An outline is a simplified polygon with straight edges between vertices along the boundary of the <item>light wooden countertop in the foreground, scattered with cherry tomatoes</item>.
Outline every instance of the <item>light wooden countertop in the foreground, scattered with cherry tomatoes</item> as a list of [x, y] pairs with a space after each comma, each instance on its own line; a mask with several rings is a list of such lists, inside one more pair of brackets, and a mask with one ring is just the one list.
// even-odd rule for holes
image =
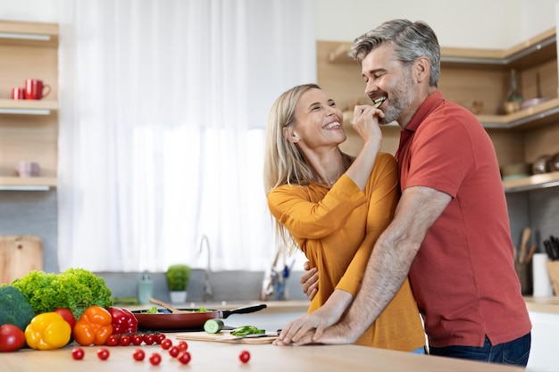
[[[169, 334], [173, 343], [175, 336]], [[313, 345], [313, 346], [274, 346], [271, 344], [220, 343], [212, 341], [188, 341], [188, 351], [192, 360], [188, 366], [172, 359], [159, 345], [114, 346], [108, 360], [99, 360], [98, 347], [84, 347], [85, 358], [73, 360], [68, 345], [54, 351], [20, 350], [0, 353], [3, 372], [97, 372], [105, 371], [523, 371], [524, 368], [457, 360], [428, 355], [418, 355], [402, 351], [387, 351], [355, 345]], [[141, 348], [146, 359], [135, 361], [132, 353]], [[250, 361], [244, 365], [238, 360], [240, 351], [251, 354]], [[149, 362], [153, 352], [159, 352], [162, 362], [154, 367]]]

